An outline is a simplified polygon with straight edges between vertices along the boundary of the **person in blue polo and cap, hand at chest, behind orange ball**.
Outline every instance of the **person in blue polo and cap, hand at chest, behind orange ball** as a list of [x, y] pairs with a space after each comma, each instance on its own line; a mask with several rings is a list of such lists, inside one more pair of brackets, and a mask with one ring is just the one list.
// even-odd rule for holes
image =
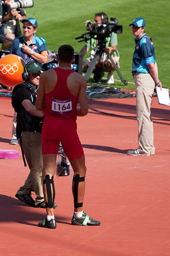
[[15, 38], [10, 54], [16, 54], [26, 62], [37, 61], [40, 65], [47, 63], [48, 49], [46, 41], [35, 35], [37, 32], [37, 20], [33, 18], [23, 19], [23, 36]]

